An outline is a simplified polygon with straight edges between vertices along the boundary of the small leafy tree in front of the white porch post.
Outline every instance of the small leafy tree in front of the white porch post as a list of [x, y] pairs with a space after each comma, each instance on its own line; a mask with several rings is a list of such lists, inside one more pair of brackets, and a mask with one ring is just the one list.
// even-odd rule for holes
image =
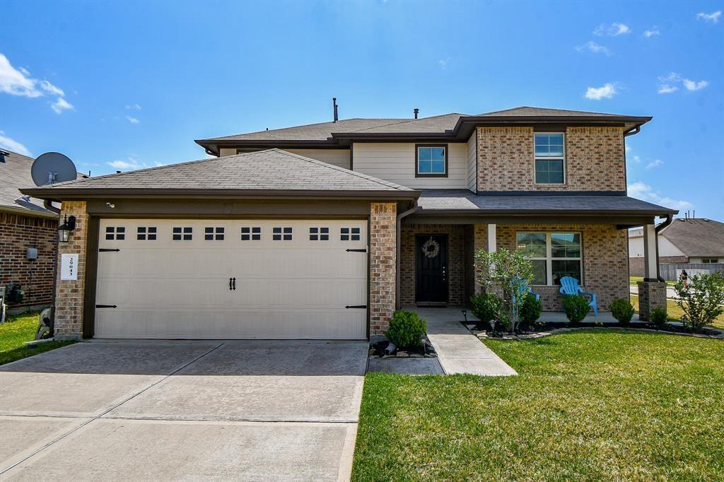
[[533, 263], [519, 251], [511, 252], [500, 248], [492, 253], [486, 250], [475, 253], [475, 268], [476, 283], [483, 287], [485, 292], [502, 294], [500, 321], [506, 323], [508, 330], [515, 331], [519, 320], [515, 319], [513, 313], [520, 313], [523, 301], [530, 291]]

